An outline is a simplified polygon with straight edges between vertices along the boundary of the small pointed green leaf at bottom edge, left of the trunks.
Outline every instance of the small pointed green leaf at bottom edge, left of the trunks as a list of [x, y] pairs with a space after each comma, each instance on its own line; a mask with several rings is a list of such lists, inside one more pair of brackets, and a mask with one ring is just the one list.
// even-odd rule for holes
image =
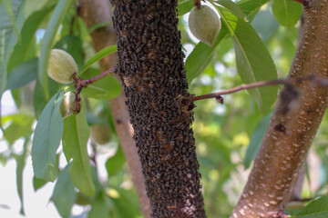
[[105, 194], [100, 192], [97, 194], [96, 199], [91, 204], [91, 210], [87, 214], [87, 218], [108, 218], [108, 205], [106, 202]]

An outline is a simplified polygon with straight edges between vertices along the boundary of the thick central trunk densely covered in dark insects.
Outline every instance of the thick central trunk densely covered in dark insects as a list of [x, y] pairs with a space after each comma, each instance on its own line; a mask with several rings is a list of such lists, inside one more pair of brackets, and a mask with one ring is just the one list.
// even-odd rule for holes
[[153, 217], [205, 217], [175, 0], [112, 0], [118, 69]]

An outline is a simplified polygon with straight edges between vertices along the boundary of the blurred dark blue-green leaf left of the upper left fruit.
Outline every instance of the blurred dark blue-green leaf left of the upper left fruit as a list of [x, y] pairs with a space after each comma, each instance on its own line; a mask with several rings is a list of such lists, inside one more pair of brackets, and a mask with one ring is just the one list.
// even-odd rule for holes
[[37, 58], [19, 64], [14, 70], [9, 72], [5, 89], [20, 88], [36, 79]]

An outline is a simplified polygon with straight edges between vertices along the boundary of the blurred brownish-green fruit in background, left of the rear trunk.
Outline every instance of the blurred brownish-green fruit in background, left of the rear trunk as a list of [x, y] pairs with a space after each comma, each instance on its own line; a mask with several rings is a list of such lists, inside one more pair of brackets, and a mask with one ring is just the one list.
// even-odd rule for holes
[[111, 130], [108, 124], [95, 124], [90, 127], [90, 135], [97, 144], [108, 144], [111, 138]]

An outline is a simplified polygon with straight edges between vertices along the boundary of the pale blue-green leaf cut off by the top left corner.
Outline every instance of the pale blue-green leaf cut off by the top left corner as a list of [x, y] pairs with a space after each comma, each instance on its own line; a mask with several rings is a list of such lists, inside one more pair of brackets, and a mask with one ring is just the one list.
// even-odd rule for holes
[[[24, 22], [24, 5], [25, 0], [10, 1], [13, 17], [15, 18], [15, 26], [18, 32], [21, 30]], [[10, 15], [9, 15], [10, 16]], [[13, 29], [13, 25], [8, 18], [5, 9], [5, 3], [0, 5], [0, 98], [5, 91], [7, 80], [7, 64], [9, 56], [17, 43], [18, 36]]]

